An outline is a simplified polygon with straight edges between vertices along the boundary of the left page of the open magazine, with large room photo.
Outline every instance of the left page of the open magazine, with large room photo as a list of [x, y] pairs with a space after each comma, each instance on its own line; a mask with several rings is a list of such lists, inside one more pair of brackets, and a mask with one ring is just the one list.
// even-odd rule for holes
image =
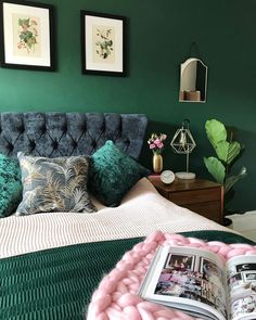
[[225, 276], [225, 263], [213, 253], [162, 246], [139, 294], [202, 319], [226, 320]]

